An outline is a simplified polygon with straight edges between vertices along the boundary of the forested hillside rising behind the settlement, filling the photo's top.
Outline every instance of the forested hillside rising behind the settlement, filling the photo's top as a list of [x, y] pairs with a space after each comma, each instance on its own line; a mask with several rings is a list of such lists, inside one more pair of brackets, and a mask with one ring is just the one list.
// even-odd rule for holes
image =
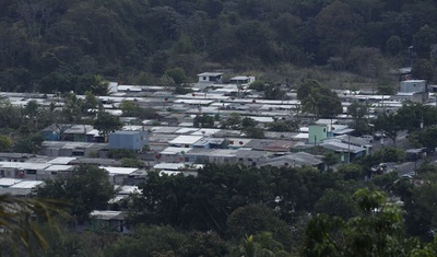
[[0, 89], [83, 93], [96, 74], [179, 84], [269, 67], [283, 75], [274, 82], [294, 82], [291, 67], [315, 66], [383, 84], [388, 62], [412, 60], [433, 79], [436, 12], [432, 0], [2, 1]]

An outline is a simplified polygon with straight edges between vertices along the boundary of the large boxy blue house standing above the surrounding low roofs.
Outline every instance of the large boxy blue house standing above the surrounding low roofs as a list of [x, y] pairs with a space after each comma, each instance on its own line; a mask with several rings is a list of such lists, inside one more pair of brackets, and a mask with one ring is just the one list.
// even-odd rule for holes
[[141, 150], [147, 144], [147, 131], [116, 131], [108, 139], [109, 149]]

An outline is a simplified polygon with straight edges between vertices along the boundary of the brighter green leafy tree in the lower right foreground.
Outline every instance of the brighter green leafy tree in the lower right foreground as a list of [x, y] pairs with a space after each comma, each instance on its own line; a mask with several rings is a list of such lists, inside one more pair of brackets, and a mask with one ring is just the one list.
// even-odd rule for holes
[[358, 189], [362, 214], [349, 220], [319, 214], [307, 226], [304, 256], [403, 256], [421, 246], [405, 236], [402, 210], [381, 191]]

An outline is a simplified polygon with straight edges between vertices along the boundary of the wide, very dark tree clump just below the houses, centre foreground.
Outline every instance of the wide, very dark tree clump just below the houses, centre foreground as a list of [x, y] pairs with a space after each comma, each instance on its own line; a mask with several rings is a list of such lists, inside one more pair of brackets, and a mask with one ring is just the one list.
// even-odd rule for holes
[[197, 177], [151, 172], [140, 186], [142, 194], [132, 196], [128, 217], [131, 224], [170, 224], [224, 235], [228, 215], [239, 207], [277, 207], [280, 218], [292, 221], [291, 213], [312, 211], [326, 188], [338, 187], [336, 179], [336, 174], [309, 167], [208, 164]]

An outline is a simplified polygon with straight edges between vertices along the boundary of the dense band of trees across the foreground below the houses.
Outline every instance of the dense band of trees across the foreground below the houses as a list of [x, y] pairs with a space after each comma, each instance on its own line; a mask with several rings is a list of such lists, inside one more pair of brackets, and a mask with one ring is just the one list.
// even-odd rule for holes
[[417, 170], [422, 186], [397, 173], [367, 182], [365, 174], [357, 163], [323, 173], [214, 164], [197, 177], [151, 173], [140, 192], [117, 203], [134, 229], [120, 235], [105, 222], [74, 230], [114, 196], [104, 171], [80, 166], [66, 182], [36, 190], [71, 202], [62, 209], [70, 219], [58, 230], [39, 220], [38, 237], [25, 237], [26, 248], [39, 252], [32, 247], [37, 240], [46, 246], [38, 256], [435, 256], [436, 166]]

